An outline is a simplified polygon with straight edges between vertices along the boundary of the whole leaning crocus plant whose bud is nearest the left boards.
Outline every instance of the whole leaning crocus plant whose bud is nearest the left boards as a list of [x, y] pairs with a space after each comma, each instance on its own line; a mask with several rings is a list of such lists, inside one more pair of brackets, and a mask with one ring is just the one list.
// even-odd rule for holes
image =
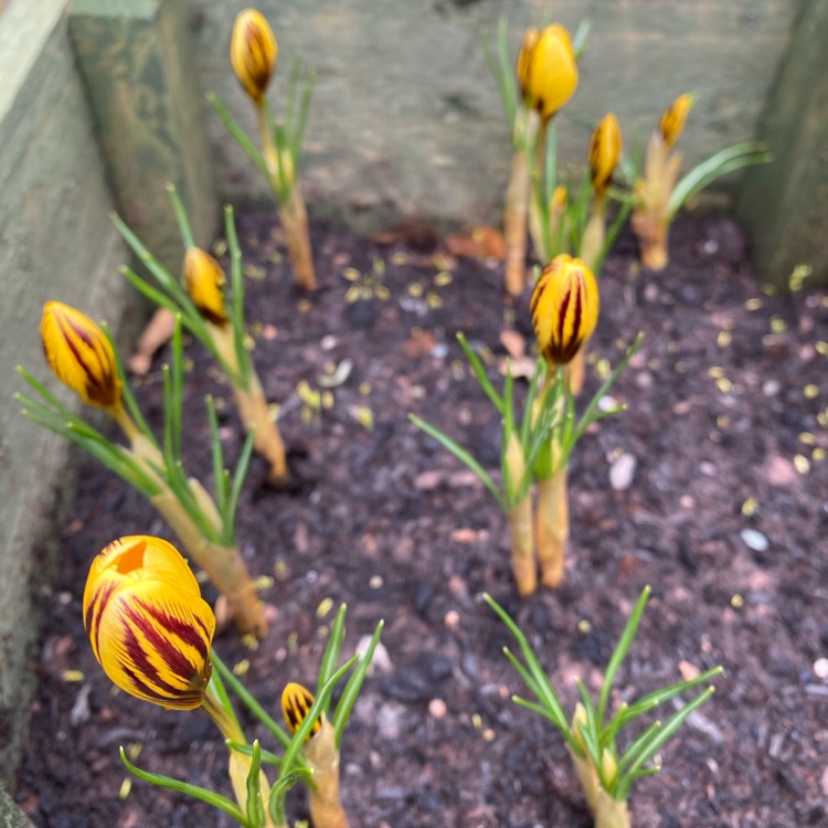
[[[192, 560], [222, 594], [222, 616], [243, 633], [264, 635], [267, 622], [256, 587], [235, 544], [235, 513], [247, 473], [253, 435], [248, 434], [231, 479], [224, 467], [219, 424], [208, 397], [215, 499], [181, 459], [183, 354], [180, 318], [172, 337], [172, 363], [164, 367], [164, 434], [159, 444], [141, 414], [108, 332], [86, 315], [47, 302], [41, 332], [50, 365], [83, 400], [97, 401], [118, 422], [129, 447], [113, 443], [64, 405], [45, 385], [19, 368], [36, 399], [18, 394], [23, 414], [96, 457], [138, 489], [163, 516]], [[224, 618], [223, 618], [224, 619]]]

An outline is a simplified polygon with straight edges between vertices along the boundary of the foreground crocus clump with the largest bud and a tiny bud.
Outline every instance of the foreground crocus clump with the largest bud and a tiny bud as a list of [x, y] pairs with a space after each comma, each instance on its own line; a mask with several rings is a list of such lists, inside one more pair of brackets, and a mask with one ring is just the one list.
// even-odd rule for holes
[[[251, 696], [211, 650], [215, 616], [179, 551], [160, 538], [121, 538], [93, 561], [84, 591], [84, 626], [106, 675], [138, 699], [171, 710], [201, 708], [224, 736], [235, 800], [216, 792], [138, 768], [139, 778], [209, 803], [247, 828], [287, 828], [285, 797], [297, 783], [309, 789], [315, 828], [348, 828], [339, 799], [339, 744], [374, 649], [380, 623], [362, 658], [337, 667], [344, 637], [342, 605], [322, 656], [316, 697], [290, 682], [283, 694], [289, 733]], [[215, 671], [213, 670], [215, 666]], [[329, 719], [335, 687], [351, 672]], [[232, 690], [280, 743], [283, 753], [248, 742], [230, 699]], [[270, 786], [264, 766], [278, 768]]]

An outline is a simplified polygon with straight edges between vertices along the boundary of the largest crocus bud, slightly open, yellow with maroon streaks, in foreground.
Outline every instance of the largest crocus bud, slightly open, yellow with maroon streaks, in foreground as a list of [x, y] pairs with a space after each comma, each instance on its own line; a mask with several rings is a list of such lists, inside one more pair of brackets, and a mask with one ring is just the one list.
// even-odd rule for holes
[[201, 705], [215, 616], [171, 543], [113, 541], [92, 562], [83, 612], [95, 658], [121, 690], [167, 709]]

